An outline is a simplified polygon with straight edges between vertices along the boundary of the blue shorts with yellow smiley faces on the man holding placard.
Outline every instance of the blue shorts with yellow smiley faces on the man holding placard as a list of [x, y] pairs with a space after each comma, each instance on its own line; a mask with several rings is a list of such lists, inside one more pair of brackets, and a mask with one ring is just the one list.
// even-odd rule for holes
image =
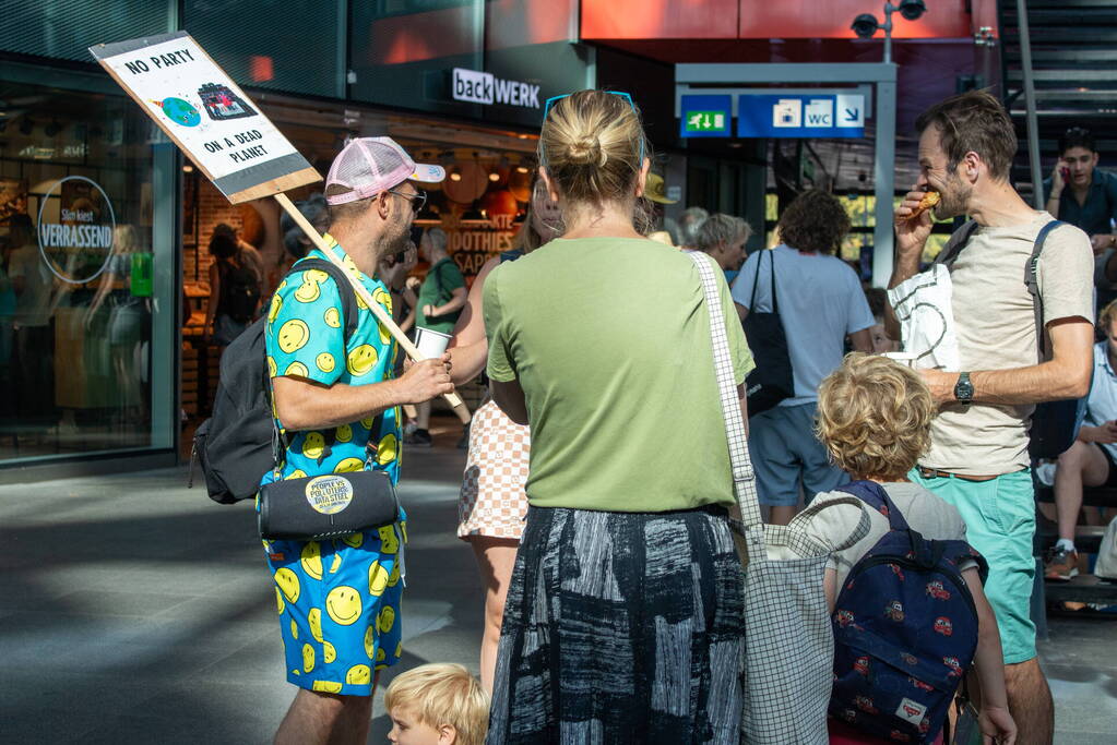
[[332, 541], [265, 541], [287, 680], [369, 696], [402, 654], [400, 596], [407, 523]]

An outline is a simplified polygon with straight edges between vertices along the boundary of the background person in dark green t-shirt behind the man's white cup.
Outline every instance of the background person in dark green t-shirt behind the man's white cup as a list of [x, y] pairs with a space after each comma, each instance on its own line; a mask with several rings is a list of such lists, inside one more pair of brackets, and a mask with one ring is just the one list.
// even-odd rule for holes
[[[419, 255], [430, 264], [427, 277], [419, 288], [419, 300], [416, 313], [416, 341], [419, 342], [424, 331], [433, 331], [436, 335], [445, 337], [442, 349], [449, 341], [454, 325], [461, 315], [461, 308], [466, 304], [467, 290], [466, 279], [461, 275], [457, 262], [450, 258], [446, 250], [446, 231], [441, 228], [430, 228], [423, 233], [419, 241]], [[438, 336], [428, 336], [430, 345]], [[433, 349], [433, 347], [430, 347]], [[416, 406], [416, 425], [404, 443], [430, 447], [430, 401]]]

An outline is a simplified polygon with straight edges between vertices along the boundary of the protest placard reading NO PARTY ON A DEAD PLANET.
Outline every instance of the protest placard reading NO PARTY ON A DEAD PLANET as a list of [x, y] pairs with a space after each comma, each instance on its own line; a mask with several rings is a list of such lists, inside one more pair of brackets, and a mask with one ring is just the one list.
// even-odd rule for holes
[[233, 204], [322, 180], [185, 31], [89, 52]]

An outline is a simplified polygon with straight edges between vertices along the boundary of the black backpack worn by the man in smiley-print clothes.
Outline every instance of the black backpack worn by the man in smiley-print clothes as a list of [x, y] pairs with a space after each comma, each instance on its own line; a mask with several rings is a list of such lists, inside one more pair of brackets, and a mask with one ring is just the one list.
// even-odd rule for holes
[[[287, 274], [317, 269], [337, 284], [345, 315], [345, 339], [359, 322], [356, 294], [345, 272], [325, 259], [303, 259]], [[271, 420], [267, 351], [264, 336], [267, 318], [260, 318], [226, 347], [213, 399], [213, 414], [194, 433], [191, 453], [206, 476], [206, 490], [214, 502], [232, 504], [256, 496], [260, 478], [281, 456], [278, 432]]]

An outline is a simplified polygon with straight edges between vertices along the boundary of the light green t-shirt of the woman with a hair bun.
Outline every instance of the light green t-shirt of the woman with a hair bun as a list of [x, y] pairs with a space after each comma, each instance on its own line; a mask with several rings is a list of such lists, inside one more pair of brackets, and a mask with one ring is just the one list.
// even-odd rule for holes
[[[713, 260], [710, 260], [713, 261]], [[719, 283], [736, 381], [755, 367]], [[485, 281], [488, 375], [518, 380], [535, 506], [734, 504], [709, 316], [690, 258], [643, 239], [554, 240]]]

